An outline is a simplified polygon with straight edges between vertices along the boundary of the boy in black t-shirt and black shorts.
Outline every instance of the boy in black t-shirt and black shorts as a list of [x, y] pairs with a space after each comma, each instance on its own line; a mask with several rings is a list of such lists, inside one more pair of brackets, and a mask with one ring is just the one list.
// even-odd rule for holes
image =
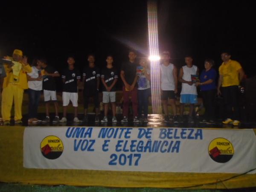
[[95, 122], [99, 122], [99, 68], [95, 66], [94, 55], [88, 55], [89, 66], [84, 67], [83, 70], [83, 84], [84, 84], [84, 119], [88, 121], [87, 110], [90, 97], [94, 99], [95, 106]]

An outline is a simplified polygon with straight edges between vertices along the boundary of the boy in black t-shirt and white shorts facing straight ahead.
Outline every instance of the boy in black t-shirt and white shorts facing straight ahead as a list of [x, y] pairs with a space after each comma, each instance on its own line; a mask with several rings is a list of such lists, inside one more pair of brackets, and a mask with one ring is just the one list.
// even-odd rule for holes
[[67, 122], [67, 106], [69, 102], [72, 102], [72, 105], [75, 109], [74, 113], [74, 122], [80, 122], [77, 117], [77, 107], [78, 107], [78, 88], [77, 85], [80, 82], [81, 76], [77, 69], [75, 69], [75, 59], [69, 57], [67, 59], [68, 68], [65, 69], [61, 75], [63, 82], [63, 92], [62, 92], [62, 101], [63, 101], [63, 117], [60, 122]]

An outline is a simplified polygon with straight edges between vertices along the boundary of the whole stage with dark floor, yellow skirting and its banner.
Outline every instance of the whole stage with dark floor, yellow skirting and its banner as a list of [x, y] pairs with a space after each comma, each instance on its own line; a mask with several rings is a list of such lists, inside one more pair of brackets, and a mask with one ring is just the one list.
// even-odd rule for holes
[[[41, 119], [44, 114], [39, 114]], [[51, 114], [53, 117], [54, 114]], [[132, 119], [0, 126], [0, 182], [73, 186], [256, 187], [254, 122], [238, 127]], [[79, 114], [82, 119], [82, 114]], [[109, 117], [111, 119], [111, 117]]]

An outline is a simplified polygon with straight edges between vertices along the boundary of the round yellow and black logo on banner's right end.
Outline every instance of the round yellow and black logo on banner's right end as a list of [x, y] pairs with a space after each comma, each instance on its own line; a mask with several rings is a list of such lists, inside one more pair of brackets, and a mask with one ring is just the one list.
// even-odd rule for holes
[[218, 163], [228, 162], [234, 154], [232, 143], [225, 138], [215, 138], [208, 146], [209, 156]]

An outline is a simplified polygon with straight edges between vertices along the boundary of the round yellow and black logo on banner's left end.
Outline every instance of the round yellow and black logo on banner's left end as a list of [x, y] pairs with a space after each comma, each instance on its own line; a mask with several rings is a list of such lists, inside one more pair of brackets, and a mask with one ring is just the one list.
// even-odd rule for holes
[[41, 152], [47, 159], [57, 159], [63, 152], [63, 143], [56, 136], [47, 136], [41, 142]]

